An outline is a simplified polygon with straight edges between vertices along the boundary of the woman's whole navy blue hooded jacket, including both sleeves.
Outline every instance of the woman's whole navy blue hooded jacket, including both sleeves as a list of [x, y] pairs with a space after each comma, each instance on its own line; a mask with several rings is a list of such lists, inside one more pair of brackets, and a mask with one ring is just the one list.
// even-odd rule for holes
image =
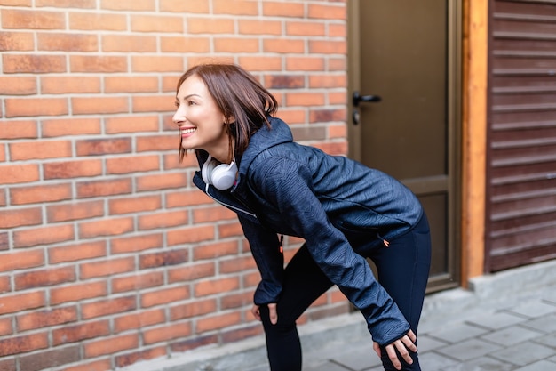
[[[197, 187], [238, 215], [262, 277], [255, 303], [279, 302], [284, 262], [278, 235], [297, 236], [361, 311], [373, 340], [385, 345], [399, 339], [409, 324], [363, 256], [419, 221], [417, 198], [385, 173], [294, 142], [279, 118], [270, 122], [272, 128], [259, 129], [236, 158], [231, 190], [208, 186], [199, 172], [194, 177]], [[202, 168], [207, 153], [197, 157]]]

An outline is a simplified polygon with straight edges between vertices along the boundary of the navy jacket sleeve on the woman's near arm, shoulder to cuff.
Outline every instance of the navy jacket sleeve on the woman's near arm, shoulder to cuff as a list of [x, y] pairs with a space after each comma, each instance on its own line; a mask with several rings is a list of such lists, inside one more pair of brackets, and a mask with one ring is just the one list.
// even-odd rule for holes
[[314, 194], [310, 169], [284, 157], [265, 158], [254, 167], [253, 189], [279, 210], [282, 220], [290, 221], [298, 236], [305, 238], [314, 261], [361, 311], [373, 340], [387, 345], [407, 334], [408, 321], [377, 283], [369, 263], [330, 223]]

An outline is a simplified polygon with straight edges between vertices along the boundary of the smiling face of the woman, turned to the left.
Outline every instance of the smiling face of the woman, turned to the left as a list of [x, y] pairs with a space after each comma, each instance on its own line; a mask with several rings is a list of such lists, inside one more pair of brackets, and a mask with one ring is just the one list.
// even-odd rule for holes
[[196, 75], [187, 77], [176, 96], [174, 124], [178, 125], [184, 149], [204, 149], [223, 161], [228, 156], [226, 117]]

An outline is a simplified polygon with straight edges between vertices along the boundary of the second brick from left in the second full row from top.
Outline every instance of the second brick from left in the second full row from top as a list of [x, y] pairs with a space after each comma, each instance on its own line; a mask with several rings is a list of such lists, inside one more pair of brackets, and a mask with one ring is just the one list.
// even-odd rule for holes
[[48, 52], [98, 52], [99, 42], [96, 35], [64, 34], [57, 32], [38, 33], [36, 36], [39, 51]]

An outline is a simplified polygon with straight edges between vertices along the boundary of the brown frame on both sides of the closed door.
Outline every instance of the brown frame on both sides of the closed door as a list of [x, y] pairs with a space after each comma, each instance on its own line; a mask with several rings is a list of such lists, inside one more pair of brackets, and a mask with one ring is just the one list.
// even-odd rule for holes
[[[361, 160], [361, 125], [353, 125], [353, 107], [351, 97], [354, 91], [361, 91], [361, 53], [360, 44], [360, 2], [350, 0], [347, 2], [348, 20], [348, 123], [347, 135], [349, 142], [348, 156]], [[464, 51], [464, 6], [462, 0], [448, 2], [448, 175], [449, 175], [449, 221], [448, 221], [448, 272], [437, 275], [429, 280], [427, 292], [460, 286], [462, 280], [461, 263], [461, 171], [462, 171], [462, 55]], [[361, 92], [376, 93], [376, 92]], [[377, 93], [379, 94], [379, 93]], [[465, 280], [464, 280], [465, 282]]]

